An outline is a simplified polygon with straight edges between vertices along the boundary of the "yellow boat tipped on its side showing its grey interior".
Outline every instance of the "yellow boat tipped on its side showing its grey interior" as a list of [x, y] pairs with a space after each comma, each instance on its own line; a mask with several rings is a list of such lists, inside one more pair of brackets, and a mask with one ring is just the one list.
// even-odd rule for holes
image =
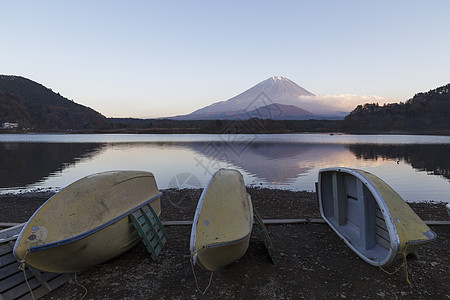
[[386, 182], [362, 170], [319, 171], [320, 213], [364, 261], [387, 266], [436, 234]]

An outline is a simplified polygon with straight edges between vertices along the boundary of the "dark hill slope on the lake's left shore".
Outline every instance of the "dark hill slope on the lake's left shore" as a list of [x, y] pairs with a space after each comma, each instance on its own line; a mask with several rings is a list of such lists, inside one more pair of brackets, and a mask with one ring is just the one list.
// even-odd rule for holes
[[95, 110], [20, 76], [0, 75], [0, 123], [38, 129], [83, 129], [104, 124]]

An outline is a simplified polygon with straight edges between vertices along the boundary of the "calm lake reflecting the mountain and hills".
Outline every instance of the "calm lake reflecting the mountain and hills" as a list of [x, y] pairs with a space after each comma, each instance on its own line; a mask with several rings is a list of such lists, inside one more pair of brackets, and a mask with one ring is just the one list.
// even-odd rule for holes
[[364, 169], [405, 200], [450, 202], [450, 137], [341, 134], [2, 134], [0, 193], [59, 190], [106, 170], [147, 170], [160, 189], [204, 187], [219, 168], [246, 185], [314, 190], [318, 171]]

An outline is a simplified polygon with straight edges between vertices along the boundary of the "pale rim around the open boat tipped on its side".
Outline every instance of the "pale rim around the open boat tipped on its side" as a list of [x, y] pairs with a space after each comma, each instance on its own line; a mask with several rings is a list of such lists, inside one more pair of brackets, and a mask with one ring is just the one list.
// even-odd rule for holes
[[[359, 249], [357, 249], [355, 246], [353, 246], [351, 241], [348, 238], [346, 238], [337, 228], [335, 228], [336, 226], [334, 224], [332, 224], [331, 221], [329, 221], [328, 218], [325, 216], [325, 213], [323, 211], [323, 204], [322, 204], [323, 199], [322, 199], [322, 188], [321, 188], [322, 187], [322, 183], [321, 183], [322, 174], [325, 172], [341, 172], [341, 173], [348, 173], [350, 175], [353, 175], [357, 179], [361, 180], [361, 182], [369, 189], [369, 191], [374, 196], [375, 201], [379, 205], [380, 211], [386, 222], [386, 227], [388, 229], [387, 231], [389, 233], [389, 239], [390, 239], [390, 241], [389, 241], [390, 247], [388, 249], [388, 253], [382, 261], [378, 262], [378, 261], [375, 261], [375, 260], [370, 259], [367, 256], [365, 256]], [[374, 176], [376, 176], [376, 175], [374, 175]], [[355, 252], [359, 257], [361, 257], [364, 261], [370, 263], [371, 265], [384, 266], [384, 265], [389, 265], [390, 263], [392, 263], [395, 260], [397, 253], [401, 249], [400, 236], [397, 232], [397, 228], [395, 226], [394, 219], [393, 219], [392, 215], [389, 213], [389, 208], [386, 204], [386, 201], [384, 200], [383, 196], [378, 191], [378, 189], [375, 187], [375, 185], [372, 183], [372, 181], [370, 181], [370, 179], [368, 179], [366, 176], [364, 176], [364, 174], [358, 172], [358, 170], [356, 170], [356, 169], [345, 168], [345, 167], [331, 167], [331, 168], [325, 168], [325, 169], [319, 170], [319, 183], [318, 184], [319, 184], [318, 199], [319, 199], [320, 214], [322, 215], [322, 218], [328, 223], [328, 225], [337, 233], [337, 235], [341, 239], [344, 240], [344, 242], [353, 250], [353, 252]]]

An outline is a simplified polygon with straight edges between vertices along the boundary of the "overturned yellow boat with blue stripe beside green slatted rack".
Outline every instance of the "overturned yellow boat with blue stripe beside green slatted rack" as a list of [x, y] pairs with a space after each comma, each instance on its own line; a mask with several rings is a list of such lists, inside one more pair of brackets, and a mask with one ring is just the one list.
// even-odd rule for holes
[[159, 215], [152, 173], [109, 171], [82, 178], [47, 200], [22, 229], [14, 255], [48, 272], [88, 269], [139, 241], [128, 215], [149, 204]]

